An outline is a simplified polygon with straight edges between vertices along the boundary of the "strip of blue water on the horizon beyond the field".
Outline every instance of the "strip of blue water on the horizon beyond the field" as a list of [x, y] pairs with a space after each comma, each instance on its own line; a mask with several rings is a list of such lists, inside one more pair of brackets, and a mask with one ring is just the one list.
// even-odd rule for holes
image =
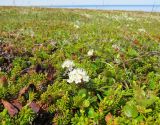
[[49, 8], [79, 8], [79, 9], [99, 9], [99, 10], [129, 10], [160, 12], [160, 5], [55, 5]]

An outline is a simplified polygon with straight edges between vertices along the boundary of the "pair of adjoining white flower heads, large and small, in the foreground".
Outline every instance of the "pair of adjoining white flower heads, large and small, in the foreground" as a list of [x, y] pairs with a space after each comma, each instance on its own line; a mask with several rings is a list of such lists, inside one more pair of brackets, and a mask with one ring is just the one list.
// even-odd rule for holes
[[73, 67], [75, 64], [71, 60], [66, 60], [62, 64], [62, 68], [67, 68], [69, 73], [69, 79], [67, 79], [68, 83], [73, 83], [75, 82], [76, 84], [81, 83], [81, 82], [88, 82], [89, 81], [89, 76], [87, 75], [86, 71], [81, 68], [75, 68]]

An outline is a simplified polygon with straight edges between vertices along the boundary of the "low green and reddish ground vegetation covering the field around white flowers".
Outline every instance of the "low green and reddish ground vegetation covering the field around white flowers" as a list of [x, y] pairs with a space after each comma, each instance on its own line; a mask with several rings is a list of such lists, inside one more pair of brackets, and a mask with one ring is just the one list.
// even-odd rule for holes
[[160, 13], [0, 7], [1, 124], [160, 124], [159, 33]]

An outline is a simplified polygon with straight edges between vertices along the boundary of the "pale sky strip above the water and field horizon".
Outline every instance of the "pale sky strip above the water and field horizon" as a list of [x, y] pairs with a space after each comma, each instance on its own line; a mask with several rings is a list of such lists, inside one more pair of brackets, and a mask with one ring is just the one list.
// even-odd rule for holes
[[30, 6], [30, 5], [152, 5], [160, 0], [0, 0], [0, 6], [7, 5]]

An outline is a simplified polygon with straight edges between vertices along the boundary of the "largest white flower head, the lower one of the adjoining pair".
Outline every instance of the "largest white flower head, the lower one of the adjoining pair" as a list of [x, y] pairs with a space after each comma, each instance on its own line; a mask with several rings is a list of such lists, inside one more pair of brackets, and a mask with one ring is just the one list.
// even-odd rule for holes
[[89, 76], [87, 75], [86, 71], [84, 69], [74, 69], [68, 74], [69, 79], [67, 80], [68, 83], [75, 82], [76, 84], [81, 82], [88, 82]]

